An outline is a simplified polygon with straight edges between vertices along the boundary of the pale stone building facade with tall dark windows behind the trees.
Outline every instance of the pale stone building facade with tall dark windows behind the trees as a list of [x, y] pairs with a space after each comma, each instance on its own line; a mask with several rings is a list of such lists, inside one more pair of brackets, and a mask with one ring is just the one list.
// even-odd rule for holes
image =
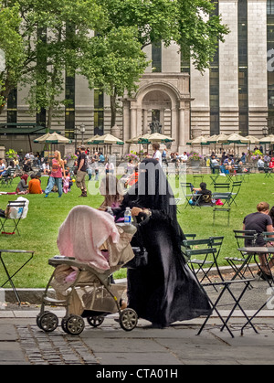
[[[216, 12], [230, 29], [225, 43], [220, 43], [210, 69], [201, 74], [191, 62], [181, 57], [175, 44], [170, 47], [147, 47], [152, 64], [142, 76], [139, 90], [132, 98], [121, 100], [117, 117], [120, 138], [124, 141], [150, 133], [156, 118], [162, 133], [174, 138], [173, 151], [183, 152], [186, 143], [197, 134], [241, 133], [262, 136], [263, 128], [274, 126], [274, 0], [218, 0]], [[272, 30], [273, 29], [273, 30]], [[73, 97], [68, 109], [53, 119], [53, 129], [70, 138], [80, 138], [79, 126], [85, 125], [82, 137], [111, 133], [111, 106], [106, 95], [90, 90], [87, 80], [77, 76], [66, 79], [66, 93]], [[27, 89], [16, 92], [0, 116], [7, 121], [37, 122], [30, 116], [24, 101]], [[273, 125], [273, 126], [272, 126]], [[13, 141], [11, 141], [13, 140]], [[25, 143], [25, 144], [24, 144]], [[27, 139], [12, 139], [1, 134], [0, 144], [27, 150]], [[33, 145], [33, 150], [40, 147]], [[124, 151], [128, 151], [126, 144]]]

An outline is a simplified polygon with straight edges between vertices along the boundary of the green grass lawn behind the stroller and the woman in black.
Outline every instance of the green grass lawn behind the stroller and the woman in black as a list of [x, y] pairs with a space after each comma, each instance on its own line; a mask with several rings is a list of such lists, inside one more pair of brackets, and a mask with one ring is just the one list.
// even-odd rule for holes
[[[47, 177], [42, 177], [42, 188], [45, 189]], [[2, 189], [2, 191], [14, 191], [18, 178], [14, 180], [13, 186]], [[218, 181], [220, 178], [218, 179]], [[187, 181], [198, 186], [200, 180], [194, 180], [192, 176], [187, 176]], [[211, 179], [208, 175], [204, 176], [204, 181], [209, 189], [213, 189]], [[222, 180], [220, 180], [221, 182]], [[98, 187], [98, 183], [92, 181], [93, 186]], [[179, 185], [178, 190], [179, 189]], [[26, 267], [20, 271], [14, 281], [16, 287], [43, 288], [47, 284], [48, 278], [53, 271], [48, 266], [47, 260], [58, 254], [57, 237], [58, 228], [67, 218], [68, 212], [77, 205], [88, 205], [99, 207], [103, 198], [98, 194], [96, 196], [88, 193], [87, 198], [79, 198], [80, 191], [74, 185], [68, 195], [58, 198], [58, 193], [51, 193], [47, 198], [44, 195], [27, 195], [29, 199], [29, 209], [27, 218], [21, 220], [19, 229], [21, 236], [0, 235], [1, 249], [14, 250], [35, 250], [35, 256]], [[243, 218], [256, 211], [259, 201], [268, 201], [270, 207], [274, 205], [273, 201], [273, 179], [266, 178], [264, 174], [251, 175], [249, 180], [242, 184], [239, 195], [237, 196], [237, 207], [234, 205], [231, 209], [230, 226], [227, 227], [227, 215], [218, 215], [216, 225], [213, 227], [212, 208], [194, 209], [185, 205], [178, 205], [178, 220], [184, 232], [196, 233], [197, 238], [206, 238], [209, 236], [225, 236], [224, 244], [219, 257], [219, 264], [225, 265], [224, 257], [227, 255], [237, 255], [237, 245], [234, 239], [233, 229], [242, 229]], [[178, 196], [180, 197], [180, 196]], [[9, 200], [15, 200], [16, 196], [0, 195], [0, 207], [5, 208]], [[24, 256], [15, 254], [5, 255], [5, 261], [8, 270], [16, 270]], [[122, 269], [115, 274], [116, 278], [125, 276], [125, 270]], [[0, 285], [5, 282], [5, 272], [0, 267]], [[5, 287], [8, 287], [6, 284]]]

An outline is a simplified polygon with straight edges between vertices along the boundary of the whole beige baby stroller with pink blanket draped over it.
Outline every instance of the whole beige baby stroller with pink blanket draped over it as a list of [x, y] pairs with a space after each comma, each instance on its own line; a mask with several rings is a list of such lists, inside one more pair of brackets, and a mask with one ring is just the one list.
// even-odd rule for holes
[[[111, 283], [111, 275], [134, 257], [131, 240], [136, 232], [132, 225], [115, 224], [113, 217], [93, 207], [73, 207], [58, 231], [61, 255], [48, 263], [55, 267], [42, 298], [37, 325], [45, 332], [58, 326], [56, 314], [45, 311], [54, 304], [66, 307], [62, 329], [79, 335], [87, 317], [94, 327], [107, 314], [120, 314], [121, 328], [131, 331], [138, 322], [130, 308], [121, 310], [121, 295], [126, 286]], [[55, 291], [50, 296], [49, 287]]]

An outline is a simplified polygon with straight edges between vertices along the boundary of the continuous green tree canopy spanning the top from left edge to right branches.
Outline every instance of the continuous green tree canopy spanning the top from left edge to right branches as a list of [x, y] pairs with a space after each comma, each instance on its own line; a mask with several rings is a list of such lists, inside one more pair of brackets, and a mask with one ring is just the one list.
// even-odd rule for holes
[[64, 72], [78, 70], [114, 108], [118, 96], [136, 89], [147, 66], [144, 47], [174, 41], [203, 71], [227, 33], [210, 0], [0, 0], [0, 113], [17, 83], [28, 84], [30, 110], [47, 109], [50, 125], [64, 103]]

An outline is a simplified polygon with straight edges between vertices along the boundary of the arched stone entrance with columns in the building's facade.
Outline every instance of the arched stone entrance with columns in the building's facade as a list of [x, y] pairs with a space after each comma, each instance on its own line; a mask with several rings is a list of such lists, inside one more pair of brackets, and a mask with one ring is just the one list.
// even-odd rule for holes
[[151, 133], [150, 123], [156, 115], [162, 133], [174, 138], [172, 150], [184, 151], [190, 132], [188, 84], [189, 77], [183, 73], [143, 75], [135, 97], [123, 100], [123, 140]]

